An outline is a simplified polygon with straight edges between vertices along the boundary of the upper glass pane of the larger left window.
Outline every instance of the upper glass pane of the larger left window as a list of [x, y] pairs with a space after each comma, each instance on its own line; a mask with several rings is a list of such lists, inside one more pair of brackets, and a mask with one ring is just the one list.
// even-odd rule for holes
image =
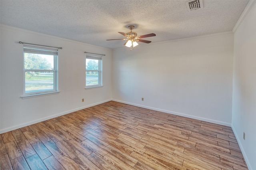
[[53, 69], [54, 55], [24, 53], [24, 69]]

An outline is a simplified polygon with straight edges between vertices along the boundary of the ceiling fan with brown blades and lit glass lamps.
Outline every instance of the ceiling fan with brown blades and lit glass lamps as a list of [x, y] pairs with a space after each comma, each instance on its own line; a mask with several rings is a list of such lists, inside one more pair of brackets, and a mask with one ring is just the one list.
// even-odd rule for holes
[[126, 38], [123, 38], [123, 39], [112, 39], [112, 40], [127, 40], [126, 43], [124, 43], [124, 45], [126, 47], [130, 47], [131, 51], [132, 51], [132, 49], [134, 49], [135, 46], [138, 45], [137, 42], [151, 43], [151, 41], [141, 40], [140, 38], [156, 36], [156, 34], [154, 34], [154, 33], [146, 34], [146, 35], [143, 35], [143, 36], [137, 36], [136, 32], [132, 32], [132, 30], [134, 29], [134, 26], [128, 26], [128, 28], [131, 31], [126, 33], [126, 34], [123, 33], [123, 32], [118, 32], [118, 33], [122, 34], [123, 36], [125, 36]]

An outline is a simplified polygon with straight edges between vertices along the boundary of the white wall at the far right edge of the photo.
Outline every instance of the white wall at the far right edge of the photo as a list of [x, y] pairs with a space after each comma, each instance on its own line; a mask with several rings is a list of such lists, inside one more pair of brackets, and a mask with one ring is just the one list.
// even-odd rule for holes
[[[256, 3], [234, 34], [232, 128], [250, 170], [256, 170]], [[243, 133], [246, 133], [245, 140]]]

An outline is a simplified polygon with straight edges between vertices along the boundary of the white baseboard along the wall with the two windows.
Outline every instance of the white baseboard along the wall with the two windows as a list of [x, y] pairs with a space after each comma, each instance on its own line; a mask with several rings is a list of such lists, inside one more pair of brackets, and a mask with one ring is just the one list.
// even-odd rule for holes
[[55, 117], [59, 117], [59, 116], [62, 116], [62, 115], [66, 115], [66, 114], [68, 114], [68, 113], [72, 113], [72, 112], [75, 112], [75, 111], [79, 111], [79, 110], [82, 110], [82, 109], [86, 109], [86, 108], [88, 108], [88, 107], [92, 107], [92, 106], [95, 106], [95, 105], [99, 105], [99, 104], [102, 104], [102, 103], [106, 103], [106, 102], [108, 102], [108, 101], [112, 101], [112, 99], [108, 99], [108, 100], [101, 101], [101, 102], [98, 102], [98, 103], [93, 103], [93, 104], [91, 104], [91, 105], [79, 107], [79, 108], [76, 108], [76, 109], [72, 109], [72, 110], [69, 110], [69, 111], [65, 111], [65, 112], [62, 112], [62, 113], [58, 113], [58, 114], [55, 114], [55, 115], [51, 115], [51, 116], [48, 116], [48, 117], [44, 117], [44, 118], [41, 118], [41, 119], [37, 119], [37, 120], [34, 120], [34, 121], [22, 123], [22, 124], [20, 124], [20, 125], [15, 125], [15, 126], [12, 126], [12, 127], [4, 128], [4, 129], [1, 129], [1, 130], [0, 130], [0, 134], [5, 133], [5, 132], [9, 132], [9, 131], [11, 131], [11, 130], [15, 130], [15, 129], [18, 129], [18, 128], [22, 128], [22, 127], [26, 127], [26, 126], [29, 126], [29, 125], [33, 125], [33, 124], [35, 124], [35, 123], [39, 123], [39, 122], [42, 122], [42, 121], [46, 121], [46, 120], [49, 120], [49, 119], [52, 119], [52, 118], [55, 118]]

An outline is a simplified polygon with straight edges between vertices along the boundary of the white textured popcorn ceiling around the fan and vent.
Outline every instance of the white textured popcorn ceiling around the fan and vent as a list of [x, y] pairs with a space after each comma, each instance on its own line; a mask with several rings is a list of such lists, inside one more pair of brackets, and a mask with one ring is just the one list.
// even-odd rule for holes
[[[118, 32], [134, 25], [154, 42], [232, 31], [248, 0], [203, 0], [188, 12], [188, 0], [0, 0], [0, 23], [116, 49]], [[18, 41], [18, 40], [17, 40]], [[141, 42], [139, 42], [141, 43]]]

